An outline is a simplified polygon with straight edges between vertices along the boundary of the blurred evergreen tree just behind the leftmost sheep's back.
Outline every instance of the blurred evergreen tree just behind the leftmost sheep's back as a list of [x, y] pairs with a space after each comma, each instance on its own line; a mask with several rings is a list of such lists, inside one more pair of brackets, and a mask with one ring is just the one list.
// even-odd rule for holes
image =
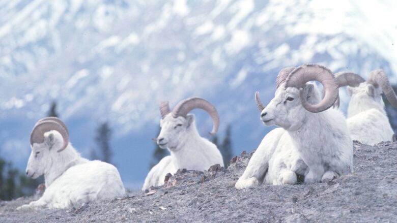
[[[106, 163], [111, 163], [111, 157], [113, 156], [113, 153], [110, 148], [110, 128], [108, 123], [105, 121], [102, 124], [98, 126], [97, 129], [97, 136], [95, 137], [95, 142], [98, 146], [98, 149], [100, 151], [99, 158], [101, 161], [106, 162]], [[93, 154], [95, 154], [95, 151], [93, 151]]]

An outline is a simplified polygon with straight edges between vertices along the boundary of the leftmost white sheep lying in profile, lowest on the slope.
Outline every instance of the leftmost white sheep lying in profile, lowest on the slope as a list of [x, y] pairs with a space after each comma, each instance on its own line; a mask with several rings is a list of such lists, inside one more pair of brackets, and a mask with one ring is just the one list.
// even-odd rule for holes
[[35, 179], [44, 174], [46, 190], [39, 200], [18, 210], [70, 208], [125, 196], [116, 167], [81, 157], [69, 143], [68, 130], [60, 119], [40, 119], [31, 134], [31, 147], [26, 175]]

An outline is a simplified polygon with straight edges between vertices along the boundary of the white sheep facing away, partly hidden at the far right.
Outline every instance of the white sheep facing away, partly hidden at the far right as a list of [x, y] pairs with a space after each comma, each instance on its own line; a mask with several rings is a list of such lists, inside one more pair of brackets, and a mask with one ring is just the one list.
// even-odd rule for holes
[[347, 123], [352, 140], [363, 144], [375, 145], [391, 141], [393, 130], [385, 111], [382, 91], [390, 104], [397, 108], [397, 97], [383, 70], [374, 70], [365, 81], [351, 72], [336, 74], [339, 87], [348, 86], [351, 96]]

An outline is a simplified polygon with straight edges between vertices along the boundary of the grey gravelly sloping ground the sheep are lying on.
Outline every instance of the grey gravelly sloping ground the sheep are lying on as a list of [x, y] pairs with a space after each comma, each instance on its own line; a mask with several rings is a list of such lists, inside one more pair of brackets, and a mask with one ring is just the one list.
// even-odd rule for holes
[[29, 212], [15, 208], [33, 198], [0, 202], [0, 222], [397, 222], [397, 143], [354, 149], [355, 173], [329, 183], [236, 190], [249, 153], [228, 170], [180, 170], [152, 195]]

